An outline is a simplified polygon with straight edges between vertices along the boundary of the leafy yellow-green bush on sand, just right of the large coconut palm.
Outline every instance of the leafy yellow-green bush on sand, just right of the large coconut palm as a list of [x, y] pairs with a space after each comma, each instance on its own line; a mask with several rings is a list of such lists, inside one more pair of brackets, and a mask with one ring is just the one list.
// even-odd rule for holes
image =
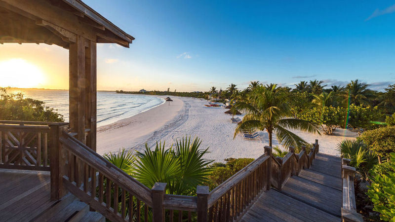
[[332, 135], [332, 131], [337, 126], [344, 124], [345, 113], [344, 108], [341, 107], [314, 107], [304, 111], [300, 118], [320, 124], [325, 134]]

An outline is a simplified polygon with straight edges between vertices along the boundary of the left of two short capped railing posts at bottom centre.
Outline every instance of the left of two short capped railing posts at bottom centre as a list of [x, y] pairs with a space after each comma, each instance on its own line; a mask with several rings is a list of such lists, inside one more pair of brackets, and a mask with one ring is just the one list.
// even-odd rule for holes
[[163, 197], [166, 190], [166, 183], [155, 183], [152, 187], [152, 214], [154, 222], [163, 222]]

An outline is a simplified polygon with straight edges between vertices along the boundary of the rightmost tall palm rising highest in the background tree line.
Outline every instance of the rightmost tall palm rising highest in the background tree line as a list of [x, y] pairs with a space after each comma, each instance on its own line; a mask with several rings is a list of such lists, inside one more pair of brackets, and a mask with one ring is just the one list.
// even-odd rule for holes
[[372, 94], [367, 88], [369, 85], [364, 82], [358, 82], [358, 79], [351, 80], [346, 86], [346, 98], [345, 102], [359, 105], [370, 105], [370, 100]]

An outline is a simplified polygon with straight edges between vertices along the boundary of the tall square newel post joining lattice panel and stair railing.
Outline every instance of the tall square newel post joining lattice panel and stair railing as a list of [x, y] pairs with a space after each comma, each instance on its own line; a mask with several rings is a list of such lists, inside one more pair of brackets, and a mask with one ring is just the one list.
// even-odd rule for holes
[[66, 130], [68, 123], [57, 122], [48, 124], [50, 128], [50, 154], [49, 154], [49, 168], [51, 172], [51, 199], [58, 200], [66, 194], [63, 187], [63, 175], [65, 170], [66, 156], [60, 144], [60, 137], [62, 131]]

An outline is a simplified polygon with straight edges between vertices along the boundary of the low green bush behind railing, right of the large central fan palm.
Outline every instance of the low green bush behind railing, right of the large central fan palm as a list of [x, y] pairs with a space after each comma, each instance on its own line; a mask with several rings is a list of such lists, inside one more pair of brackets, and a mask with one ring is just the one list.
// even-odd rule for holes
[[222, 184], [238, 171], [243, 169], [254, 159], [252, 158], [228, 158], [225, 159], [224, 163], [213, 163], [210, 168], [212, 169], [210, 175], [207, 176], [207, 182], [205, 185], [209, 186], [210, 190], [214, 189], [218, 185]]

